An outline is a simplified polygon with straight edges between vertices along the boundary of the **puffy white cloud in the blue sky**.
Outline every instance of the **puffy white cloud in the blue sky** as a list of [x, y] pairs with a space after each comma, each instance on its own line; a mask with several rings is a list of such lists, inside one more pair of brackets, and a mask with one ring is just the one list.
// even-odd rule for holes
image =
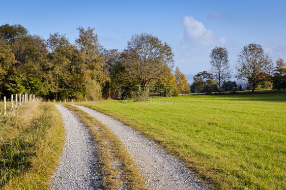
[[183, 27], [185, 32], [184, 39], [189, 42], [195, 42], [199, 39], [197, 43], [204, 46], [216, 43], [225, 44], [227, 42], [223, 37], [220, 37], [218, 40], [211, 30], [207, 30], [202, 22], [195, 20], [192, 16], [186, 15], [183, 18]]

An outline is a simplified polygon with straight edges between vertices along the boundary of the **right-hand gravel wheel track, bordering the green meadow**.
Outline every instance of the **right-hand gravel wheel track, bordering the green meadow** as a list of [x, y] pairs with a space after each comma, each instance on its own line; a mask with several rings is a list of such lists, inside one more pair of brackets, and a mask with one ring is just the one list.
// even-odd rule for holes
[[89, 113], [115, 133], [138, 164], [150, 189], [209, 189], [196, 180], [190, 169], [153, 140], [113, 117], [84, 106], [76, 107]]

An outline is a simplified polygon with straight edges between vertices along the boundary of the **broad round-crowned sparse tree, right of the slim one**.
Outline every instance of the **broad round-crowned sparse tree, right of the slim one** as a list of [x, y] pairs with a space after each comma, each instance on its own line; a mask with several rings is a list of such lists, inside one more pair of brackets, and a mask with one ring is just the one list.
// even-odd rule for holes
[[247, 78], [251, 83], [252, 92], [273, 69], [271, 58], [259, 44], [249, 44], [244, 46], [241, 52], [238, 54], [238, 60], [236, 64], [238, 78]]

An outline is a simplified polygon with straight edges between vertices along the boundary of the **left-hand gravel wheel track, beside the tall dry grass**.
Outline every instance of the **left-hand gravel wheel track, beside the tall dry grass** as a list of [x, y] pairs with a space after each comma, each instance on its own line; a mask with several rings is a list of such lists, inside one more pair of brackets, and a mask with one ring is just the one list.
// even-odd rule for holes
[[89, 130], [69, 109], [55, 106], [64, 120], [66, 141], [50, 189], [99, 189], [99, 162]]

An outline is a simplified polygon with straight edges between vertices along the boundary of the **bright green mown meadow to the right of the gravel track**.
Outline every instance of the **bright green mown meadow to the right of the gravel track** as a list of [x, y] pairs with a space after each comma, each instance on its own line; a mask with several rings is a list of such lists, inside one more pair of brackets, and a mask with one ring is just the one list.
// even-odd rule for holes
[[286, 94], [165, 98], [84, 106], [115, 117], [220, 189], [286, 189]]

